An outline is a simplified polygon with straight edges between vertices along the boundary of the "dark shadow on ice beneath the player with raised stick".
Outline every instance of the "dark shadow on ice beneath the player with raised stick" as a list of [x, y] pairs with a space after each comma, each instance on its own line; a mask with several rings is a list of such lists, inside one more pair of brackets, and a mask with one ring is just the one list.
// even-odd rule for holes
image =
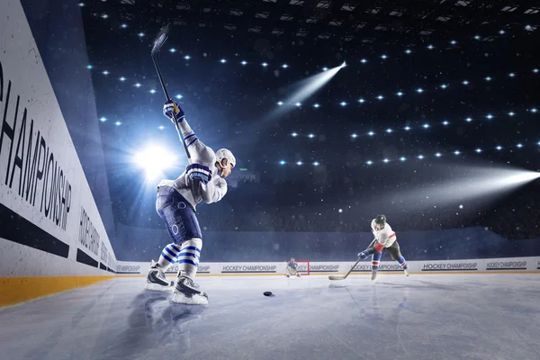
[[115, 331], [110, 332], [112, 336], [105, 339], [101, 355], [151, 358], [156, 347], [188, 350], [191, 347], [189, 328], [207, 307], [175, 304], [170, 302], [171, 297], [169, 292], [139, 293], [130, 304], [127, 324], [121, 326], [116, 336]]

